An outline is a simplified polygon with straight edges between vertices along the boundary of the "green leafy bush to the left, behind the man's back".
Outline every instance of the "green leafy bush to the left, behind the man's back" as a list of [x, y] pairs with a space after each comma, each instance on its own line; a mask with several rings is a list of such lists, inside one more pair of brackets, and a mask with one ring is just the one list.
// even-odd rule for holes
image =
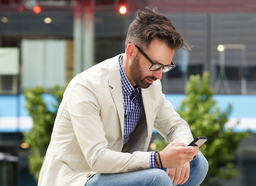
[[33, 119], [34, 126], [29, 132], [23, 133], [24, 142], [30, 146], [29, 172], [34, 175], [37, 181], [40, 168], [51, 138], [52, 127], [58, 110], [58, 106], [63, 97], [64, 89], [55, 86], [52, 95], [52, 102], [45, 102], [43, 96], [45, 90], [42, 87], [36, 87], [24, 92], [26, 99], [25, 108]]

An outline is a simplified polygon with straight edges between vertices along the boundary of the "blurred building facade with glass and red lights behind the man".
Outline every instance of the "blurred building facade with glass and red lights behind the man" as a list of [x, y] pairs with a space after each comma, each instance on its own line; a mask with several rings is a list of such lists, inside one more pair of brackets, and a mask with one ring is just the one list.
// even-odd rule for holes
[[[121, 4], [127, 13], [119, 13]], [[241, 111], [234, 117], [243, 117], [245, 125], [249, 118], [256, 128], [254, 0], [0, 0], [0, 185], [35, 184], [27, 170], [28, 151], [20, 147], [22, 132], [31, 128], [23, 91], [65, 86], [90, 66], [124, 53], [128, 26], [136, 10], [146, 6], [157, 7], [194, 46], [189, 55], [175, 52], [176, 68], [163, 75], [163, 92], [183, 95], [189, 75], [209, 71], [217, 96], [249, 105], [244, 111], [238, 104]], [[250, 153], [255, 156], [255, 149]], [[255, 165], [255, 158], [248, 164]], [[249, 179], [246, 175], [240, 183]]]

